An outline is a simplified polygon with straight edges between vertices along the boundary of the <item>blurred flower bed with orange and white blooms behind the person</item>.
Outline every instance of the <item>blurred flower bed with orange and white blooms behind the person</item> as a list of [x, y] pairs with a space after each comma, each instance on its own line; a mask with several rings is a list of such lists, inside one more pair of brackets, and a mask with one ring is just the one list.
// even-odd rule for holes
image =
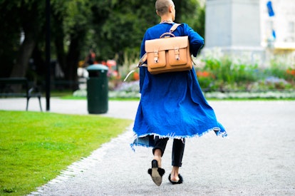
[[[294, 60], [286, 61], [284, 56], [274, 56], [269, 66], [233, 61], [223, 55], [219, 58], [206, 56], [197, 61], [199, 66], [195, 67], [195, 71], [207, 98], [295, 99], [295, 63]], [[120, 72], [120, 81], [109, 78], [109, 97], [140, 98], [138, 70], [127, 82], [122, 82], [130, 68], [123, 66], [121, 69], [125, 71]], [[78, 91], [74, 96], [86, 94], [86, 91]]]

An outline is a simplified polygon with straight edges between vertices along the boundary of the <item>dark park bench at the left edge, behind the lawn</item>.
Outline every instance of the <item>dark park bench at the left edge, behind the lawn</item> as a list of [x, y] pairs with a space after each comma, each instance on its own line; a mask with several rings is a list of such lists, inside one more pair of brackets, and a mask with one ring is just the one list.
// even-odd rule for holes
[[26, 110], [29, 107], [30, 98], [38, 98], [40, 110], [41, 92], [36, 87], [29, 87], [27, 78], [0, 78], [0, 97], [23, 97], [26, 98]]

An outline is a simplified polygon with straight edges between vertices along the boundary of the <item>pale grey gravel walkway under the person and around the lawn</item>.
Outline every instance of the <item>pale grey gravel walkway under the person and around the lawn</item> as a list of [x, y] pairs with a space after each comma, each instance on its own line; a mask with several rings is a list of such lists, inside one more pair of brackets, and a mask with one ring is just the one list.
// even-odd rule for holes
[[[31, 195], [295, 195], [295, 101], [209, 103], [229, 137], [208, 133], [187, 140], [182, 185], [167, 180], [171, 141], [162, 158], [167, 173], [160, 187], [154, 185], [147, 173], [151, 149], [130, 150], [130, 125], [123, 135]], [[0, 110], [25, 110], [25, 105], [21, 99], [0, 99]], [[104, 115], [133, 119], [137, 105], [137, 101], [110, 101]], [[33, 99], [29, 110], [38, 110]], [[52, 98], [51, 112], [87, 115], [87, 103]]]

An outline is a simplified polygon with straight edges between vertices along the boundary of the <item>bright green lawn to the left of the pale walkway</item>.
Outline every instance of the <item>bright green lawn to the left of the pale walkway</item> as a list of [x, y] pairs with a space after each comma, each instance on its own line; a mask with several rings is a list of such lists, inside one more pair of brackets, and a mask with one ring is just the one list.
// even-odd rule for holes
[[125, 131], [132, 120], [0, 111], [0, 195], [26, 195]]

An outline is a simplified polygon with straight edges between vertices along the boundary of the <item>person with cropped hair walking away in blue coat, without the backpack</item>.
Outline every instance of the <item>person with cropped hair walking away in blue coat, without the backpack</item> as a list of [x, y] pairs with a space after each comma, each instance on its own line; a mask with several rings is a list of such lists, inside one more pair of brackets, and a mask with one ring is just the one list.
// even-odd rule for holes
[[[172, 0], [157, 0], [155, 9], [160, 24], [145, 31], [140, 48], [140, 57], [145, 54], [145, 41], [160, 38], [170, 31], [175, 21], [175, 5]], [[202, 38], [188, 24], [181, 24], [173, 32], [175, 36], [188, 36], [190, 51], [197, 56], [204, 45]], [[145, 62], [146, 63], [146, 62]], [[161, 167], [167, 141], [173, 139], [172, 171], [169, 181], [175, 185], [183, 182], [180, 175], [185, 139], [214, 131], [227, 136], [224, 127], [217, 121], [214, 110], [203, 96], [195, 70], [160, 73], [152, 75], [145, 66], [140, 67], [140, 103], [135, 116], [133, 131], [135, 146], [152, 147], [152, 167], [148, 173], [160, 186], [165, 170]]]

